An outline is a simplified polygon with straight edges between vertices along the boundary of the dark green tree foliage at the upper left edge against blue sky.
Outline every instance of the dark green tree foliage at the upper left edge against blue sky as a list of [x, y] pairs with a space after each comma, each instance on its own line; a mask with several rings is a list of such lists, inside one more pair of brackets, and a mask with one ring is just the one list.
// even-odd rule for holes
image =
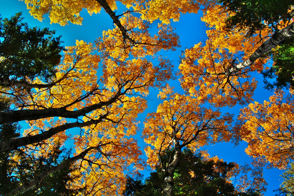
[[61, 36], [53, 38], [55, 31], [30, 28], [22, 20], [21, 13], [0, 18], [0, 77], [16, 80], [41, 76], [48, 81], [60, 63], [59, 53], [64, 49]]

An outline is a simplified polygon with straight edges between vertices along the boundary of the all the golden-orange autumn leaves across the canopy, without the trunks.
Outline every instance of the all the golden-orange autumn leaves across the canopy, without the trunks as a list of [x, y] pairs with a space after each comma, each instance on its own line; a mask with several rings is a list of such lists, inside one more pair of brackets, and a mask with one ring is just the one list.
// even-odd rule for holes
[[[61, 26], [69, 22], [81, 25], [82, 9], [89, 14], [101, 11], [101, 5], [94, 0], [24, 1], [36, 19], [42, 21], [48, 14], [51, 23]], [[111, 11], [117, 9], [116, 1], [105, 2]], [[133, 11], [112, 17], [118, 22], [113, 19], [114, 28], [104, 31], [95, 44], [76, 41], [76, 46], [67, 47], [56, 67], [56, 78], [50, 84], [41, 78], [26, 80], [29, 84], [46, 87], [11, 86], [2, 90], [11, 95], [16, 108], [25, 110], [61, 108], [66, 112], [77, 112], [93, 108], [73, 119], [52, 115], [30, 120], [31, 127], [24, 131], [24, 136], [38, 135], [51, 128], [80, 123], [76, 126], [80, 128], [79, 134], [74, 131], [73, 137], [63, 130], [27, 147], [29, 152], [37, 152], [34, 153], [36, 157], [38, 153], [49, 156], [50, 151], [64, 145], [69, 138], [74, 141], [75, 155], [95, 147], [78, 161], [80, 170], [72, 175], [79, 172], [81, 176], [69, 184], [69, 187], [85, 188], [85, 195], [121, 195], [128, 168], [142, 168], [141, 152], [131, 137], [138, 131], [138, 114], [147, 108], [149, 88], [162, 88], [168, 79], [174, 79], [171, 62], [156, 56], [158, 51], [175, 50], [180, 46], [178, 35], [168, 25], [171, 19], [178, 21], [181, 14], [197, 13], [200, 6], [205, 5], [202, 21], [209, 28], [206, 32], [208, 40], [186, 49], [181, 59], [181, 86], [189, 96], [174, 93], [166, 86], [159, 93], [163, 102], [146, 118], [143, 137], [148, 145], [145, 148], [148, 164], [152, 167], [160, 162], [158, 154], [170, 147], [187, 147], [195, 151], [208, 143], [229, 141], [235, 134], [232, 133], [232, 115], [222, 116], [218, 109], [203, 107], [203, 103], [208, 101], [218, 108], [251, 102], [256, 81], [250, 72], [261, 72], [267, 61], [260, 59], [250, 68], [230, 77], [225, 75], [228, 68], [248, 58], [272, 32], [266, 28], [250, 38], [246, 37], [245, 29], [233, 29], [228, 33], [225, 20], [231, 13], [216, 1], [121, 0], [121, 3]], [[161, 23], [157, 33], [151, 35], [150, 27], [156, 20]], [[148, 58], [157, 58], [157, 64]], [[262, 157], [279, 168], [293, 156], [294, 126], [289, 120], [293, 119], [293, 98], [282, 103], [281, 96], [278, 92], [270, 102], [244, 108], [239, 116], [244, 124], [237, 133], [249, 143], [248, 154]], [[236, 167], [236, 172], [238, 169]], [[247, 167], [243, 170], [249, 171]], [[256, 182], [263, 181], [262, 177], [256, 179], [259, 179]], [[243, 177], [243, 184], [245, 182], [251, 183], [247, 176]]]

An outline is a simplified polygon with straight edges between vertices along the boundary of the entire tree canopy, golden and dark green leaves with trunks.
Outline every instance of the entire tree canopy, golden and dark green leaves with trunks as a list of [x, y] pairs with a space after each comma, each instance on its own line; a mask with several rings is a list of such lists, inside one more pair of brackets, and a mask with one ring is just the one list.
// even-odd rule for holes
[[[20, 13], [1, 19], [3, 194], [122, 195], [128, 182], [135, 195], [262, 195], [263, 166], [284, 169], [293, 159], [293, 89], [260, 104], [255, 76], [275, 72], [274, 86], [291, 86], [293, 4], [222, 2], [25, 0], [36, 19], [48, 15], [61, 26], [82, 25], [83, 9], [108, 14], [112, 29], [65, 48], [55, 31], [30, 28]], [[174, 70], [163, 53], [181, 47], [171, 20], [200, 9], [207, 40], [186, 48]], [[168, 84], [175, 79], [182, 93]], [[239, 115], [224, 109], [236, 105], [244, 107]], [[140, 133], [146, 163], [134, 139]], [[241, 140], [252, 166], [196, 153]], [[156, 172], [145, 184], [127, 177], [147, 165]]]

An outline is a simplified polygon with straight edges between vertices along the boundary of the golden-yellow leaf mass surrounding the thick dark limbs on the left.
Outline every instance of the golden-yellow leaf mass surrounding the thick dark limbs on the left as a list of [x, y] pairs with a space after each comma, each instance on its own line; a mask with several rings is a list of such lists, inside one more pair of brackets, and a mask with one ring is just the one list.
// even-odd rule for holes
[[[157, 65], [138, 57], [121, 61], [100, 49], [100, 45], [99, 41], [95, 46], [76, 41], [76, 46], [67, 47], [56, 67], [56, 78], [48, 86], [32, 89], [11, 86], [4, 90], [14, 97], [15, 107], [24, 110], [60, 109], [74, 113], [86, 109], [75, 118], [52, 114], [48, 118], [30, 120], [24, 137], [74, 123], [80, 130], [59, 131], [39, 143], [27, 145], [25, 150], [28, 154], [34, 153], [36, 158], [50, 156], [51, 151], [63, 146], [68, 139], [74, 141], [75, 155], [93, 148], [75, 163], [80, 166], [76, 172], [82, 175], [69, 187], [85, 188], [90, 195], [121, 195], [125, 172], [130, 168], [143, 168], [139, 158], [141, 151], [132, 139], [138, 131], [136, 118], [147, 108], [149, 88], [161, 88], [168, 78], [173, 78], [173, 66], [162, 57], [158, 57]], [[109, 56], [101, 68], [98, 50]], [[46, 84], [41, 78], [26, 82]]]

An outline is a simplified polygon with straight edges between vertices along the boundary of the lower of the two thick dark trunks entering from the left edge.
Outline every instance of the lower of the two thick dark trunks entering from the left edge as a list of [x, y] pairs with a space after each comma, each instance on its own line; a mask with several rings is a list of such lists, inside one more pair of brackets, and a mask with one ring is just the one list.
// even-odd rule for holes
[[84, 123], [66, 123], [64, 125], [60, 125], [58, 127], [54, 127], [49, 129], [48, 131], [45, 131], [41, 134], [33, 135], [33, 136], [26, 136], [23, 138], [16, 138], [12, 140], [6, 140], [6, 141], [0, 141], [0, 152], [5, 150], [14, 150], [20, 146], [25, 146], [29, 144], [34, 144], [41, 142], [43, 140], [49, 139], [54, 134], [59, 133], [61, 131], [64, 131], [66, 129], [74, 128], [74, 127], [85, 127], [93, 124], [98, 124], [102, 122], [103, 119], [106, 118], [108, 114], [100, 116], [97, 120], [89, 120]]

